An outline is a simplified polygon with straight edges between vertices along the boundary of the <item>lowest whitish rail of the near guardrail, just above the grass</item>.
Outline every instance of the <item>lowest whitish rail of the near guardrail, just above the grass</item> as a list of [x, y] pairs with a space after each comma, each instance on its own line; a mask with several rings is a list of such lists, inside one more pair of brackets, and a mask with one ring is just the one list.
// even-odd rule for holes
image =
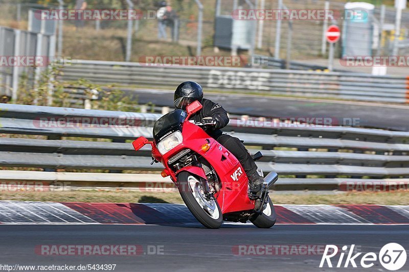
[[[176, 186], [169, 177], [162, 178], [154, 174], [113, 174], [113, 173], [80, 173], [80, 172], [43, 172], [0, 170], [2, 185], [8, 181], [10, 190], [27, 191], [63, 191], [75, 189], [126, 189], [135, 191], [177, 192]], [[22, 182], [24, 181], [24, 182]], [[389, 188], [391, 190], [406, 188], [409, 179], [293, 179], [280, 178], [274, 184], [274, 190], [340, 190], [350, 191]]]

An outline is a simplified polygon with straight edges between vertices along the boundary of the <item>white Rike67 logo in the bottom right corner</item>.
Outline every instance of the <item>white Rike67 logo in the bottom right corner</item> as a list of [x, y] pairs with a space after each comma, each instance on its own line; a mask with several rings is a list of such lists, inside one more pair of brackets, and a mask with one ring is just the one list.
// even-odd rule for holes
[[[335, 267], [358, 267], [359, 264], [363, 268], [370, 268], [375, 265], [375, 262], [379, 260], [380, 264], [388, 270], [394, 271], [403, 267], [406, 263], [406, 251], [398, 243], [385, 244], [376, 255], [374, 252], [369, 252], [365, 255], [361, 255], [362, 252], [354, 254], [355, 245], [352, 244], [348, 249], [347, 245], [342, 247], [342, 251], [338, 252], [338, 247], [333, 244], [326, 246], [324, 255], [321, 259], [320, 268], [324, 267], [326, 262], [328, 267], [333, 267], [332, 261], [335, 262]], [[339, 253], [339, 259], [335, 257]], [[353, 255], [354, 254], [354, 255]], [[346, 258], [344, 258], [346, 256]], [[331, 260], [333, 258], [333, 260]], [[358, 261], [360, 258], [360, 261]]]

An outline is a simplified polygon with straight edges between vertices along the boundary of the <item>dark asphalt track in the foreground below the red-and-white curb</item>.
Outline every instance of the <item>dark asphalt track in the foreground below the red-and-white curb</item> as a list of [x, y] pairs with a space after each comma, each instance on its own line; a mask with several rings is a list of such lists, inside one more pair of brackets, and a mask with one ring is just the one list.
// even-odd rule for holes
[[[244, 256], [234, 254], [235, 245], [348, 245], [361, 252], [375, 252], [387, 243], [409, 249], [409, 226], [276, 225], [260, 230], [252, 225], [223, 225], [218, 230], [192, 226], [124, 225], [0, 225], [1, 264], [79, 265], [117, 264], [115, 271], [332, 271], [319, 268], [322, 255]], [[163, 255], [139, 256], [41, 256], [43, 244], [139, 244], [162, 245]], [[362, 254], [363, 255], [363, 254]], [[361, 255], [361, 256], [362, 256]], [[333, 260], [336, 265], [338, 258]], [[358, 262], [360, 258], [358, 257]], [[338, 271], [387, 271], [375, 266], [338, 268]], [[409, 271], [409, 261], [399, 271]]]

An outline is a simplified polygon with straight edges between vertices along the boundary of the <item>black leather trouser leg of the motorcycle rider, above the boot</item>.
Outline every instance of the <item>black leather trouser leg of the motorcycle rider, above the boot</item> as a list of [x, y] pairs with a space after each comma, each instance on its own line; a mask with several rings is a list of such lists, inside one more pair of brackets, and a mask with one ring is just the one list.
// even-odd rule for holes
[[215, 140], [226, 147], [226, 149], [228, 149], [239, 160], [244, 168], [244, 171], [246, 172], [247, 177], [256, 174], [257, 165], [239, 138], [232, 137], [228, 134], [222, 134], [215, 138]]

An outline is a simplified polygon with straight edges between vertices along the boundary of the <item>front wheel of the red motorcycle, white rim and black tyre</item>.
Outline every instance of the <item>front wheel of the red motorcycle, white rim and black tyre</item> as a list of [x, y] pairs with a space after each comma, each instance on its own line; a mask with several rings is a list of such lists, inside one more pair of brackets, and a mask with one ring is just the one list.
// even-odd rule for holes
[[180, 196], [193, 216], [207, 228], [219, 228], [223, 221], [220, 206], [215, 199], [207, 199], [199, 179], [183, 171], [177, 175], [177, 183]]

